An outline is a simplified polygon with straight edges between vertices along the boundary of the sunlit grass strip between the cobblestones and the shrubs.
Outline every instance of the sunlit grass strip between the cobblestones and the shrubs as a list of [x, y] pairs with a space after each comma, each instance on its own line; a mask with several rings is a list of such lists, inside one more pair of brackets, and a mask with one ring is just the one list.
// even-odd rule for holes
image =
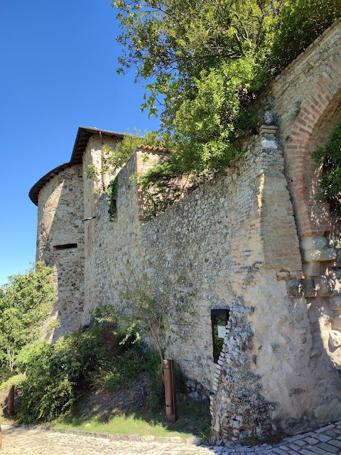
[[139, 434], [139, 436], [173, 437], [183, 439], [199, 436], [207, 439], [210, 433], [210, 410], [208, 400], [195, 401], [190, 397], [178, 400], [178, 422], [166, 422], [166, 410], [150, 410], [117, 414], [103, 422], [93, 410], [92, 415], [84, 416], [74, 408], [66, 417], [60, 418], [51, 425], [60, 429], [77, 429], [87, 432], [107, 434]]

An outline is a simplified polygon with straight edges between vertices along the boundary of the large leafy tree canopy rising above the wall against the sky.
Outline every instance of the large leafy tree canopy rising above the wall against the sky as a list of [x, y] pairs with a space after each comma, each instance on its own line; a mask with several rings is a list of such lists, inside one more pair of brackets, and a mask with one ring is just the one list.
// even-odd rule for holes
[[222, 171], [243, 155], [249, 103], [341, 14], [341, 0], [115, 0], [120, 73], [161, 109], [172, 175]]

